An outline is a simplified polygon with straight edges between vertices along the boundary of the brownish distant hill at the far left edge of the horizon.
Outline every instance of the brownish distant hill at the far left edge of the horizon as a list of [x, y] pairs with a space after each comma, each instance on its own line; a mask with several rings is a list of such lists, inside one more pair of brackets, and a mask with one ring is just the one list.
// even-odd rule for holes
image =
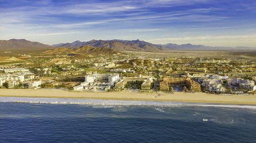
[[52, 47], [53, 46], [39, 42], [31, 42], [25, 39], [0, 40], [0, 49], [36, 49]]

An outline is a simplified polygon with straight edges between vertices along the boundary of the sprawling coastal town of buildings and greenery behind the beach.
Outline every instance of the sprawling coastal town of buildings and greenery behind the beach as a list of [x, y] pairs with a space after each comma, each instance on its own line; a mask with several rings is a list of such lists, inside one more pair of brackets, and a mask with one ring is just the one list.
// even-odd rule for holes
[[[186, 54], [190, 54], [187, 56]], [[197, 56], [186, 52], [123, 52], [112, 55], [31, 56], [31, 63], [0, 66], [0, 87], [57, 88], [80, 92], [205, 92], [254, 94], [254, 59]], [[39, 60], [38, 60], [39, 59]]]

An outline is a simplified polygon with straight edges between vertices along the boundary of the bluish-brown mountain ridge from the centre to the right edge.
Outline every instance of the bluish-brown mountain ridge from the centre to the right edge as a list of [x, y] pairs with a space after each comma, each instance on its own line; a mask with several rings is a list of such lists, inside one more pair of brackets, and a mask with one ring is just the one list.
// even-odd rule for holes
[[79, 48], [81, 46], [108, 48], [117, 51], [164, 51], [164, 50], [256, 50], [251, 47], [211, 47], [192, 44], [152, 44], [140, 40], [91, 40], [88, 42], [75, 41], [73, 43], [56, 44], [55, 47]]

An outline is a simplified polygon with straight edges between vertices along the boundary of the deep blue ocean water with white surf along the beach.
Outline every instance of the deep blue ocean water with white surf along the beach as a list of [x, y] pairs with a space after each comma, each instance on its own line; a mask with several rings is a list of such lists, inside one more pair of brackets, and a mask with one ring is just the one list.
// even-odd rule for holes
[[256, 106], [0, 97], [0, 142], [256, 142]]

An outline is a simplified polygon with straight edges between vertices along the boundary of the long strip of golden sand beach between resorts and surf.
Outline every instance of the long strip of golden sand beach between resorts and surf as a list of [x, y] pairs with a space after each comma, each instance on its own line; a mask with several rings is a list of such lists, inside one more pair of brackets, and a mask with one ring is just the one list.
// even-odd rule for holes
[[226, 104], [256, 105], [256, 95], [221, 96], [207, 93], [167, 94], [163, 92], [69, 92], [57, 89], [0, 89], [0, 97], [32, 97], [32, 98], [77, 98], [103, 100], [137, 100], [137, 101], [178, 101]]

